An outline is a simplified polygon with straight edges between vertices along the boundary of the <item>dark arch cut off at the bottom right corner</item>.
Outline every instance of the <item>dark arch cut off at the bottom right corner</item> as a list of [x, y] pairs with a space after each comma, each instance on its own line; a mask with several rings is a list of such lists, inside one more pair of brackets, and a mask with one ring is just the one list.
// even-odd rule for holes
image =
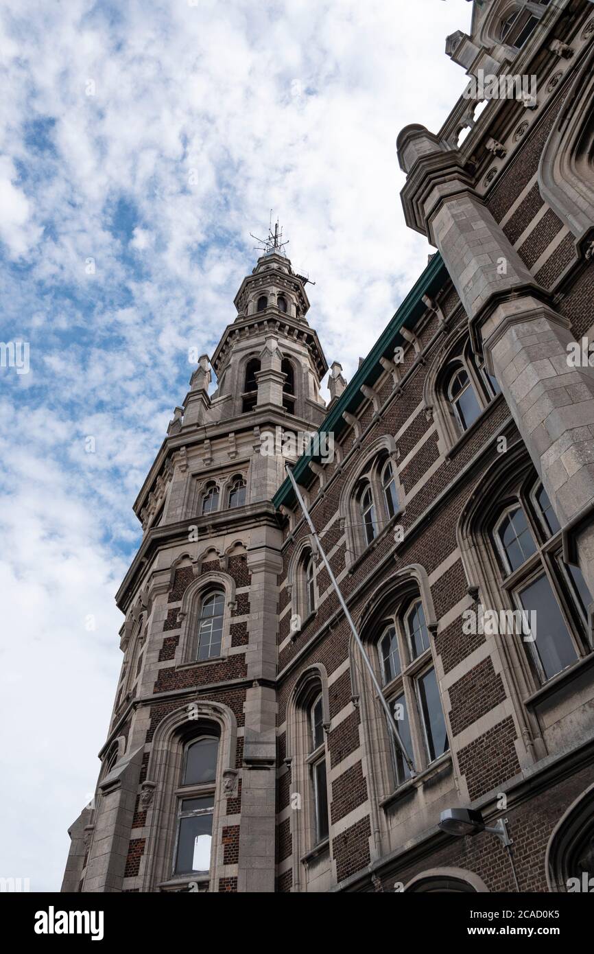
[[567, 891], [567, 882], [576, 877], [576, 862], [581, 861], [581, 851], [588, 841], [589, 858], [594, 861], [594, 783], [571, 803], [548, 840], [544, 869], [549, 891]]

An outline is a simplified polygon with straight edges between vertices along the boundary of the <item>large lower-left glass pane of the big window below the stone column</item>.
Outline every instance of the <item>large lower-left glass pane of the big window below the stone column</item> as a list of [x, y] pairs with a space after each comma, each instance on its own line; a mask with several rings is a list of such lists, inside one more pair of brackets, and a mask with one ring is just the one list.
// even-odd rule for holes
[[543, 574], [518, 594], [524, 610], [536, 612], [536, 639], [528, 645], [537, 653], [545, 679], [561, 673], [576, 660], [559, 604]]

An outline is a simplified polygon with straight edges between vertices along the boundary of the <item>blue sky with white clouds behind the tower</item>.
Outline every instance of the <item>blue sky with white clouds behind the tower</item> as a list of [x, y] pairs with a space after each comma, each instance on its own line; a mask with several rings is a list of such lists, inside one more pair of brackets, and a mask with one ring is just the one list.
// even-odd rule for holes
[[471, 5], [2, 6], [0, 341], [30, 351], [0, 367], [0, 876], [58, 890], [121, 661], [132, 504], [188, 348], [233, 321], [272, 208], [351, 376], [426, 264], [396, 136], [437, 131], [461, 94], [444, 41]]

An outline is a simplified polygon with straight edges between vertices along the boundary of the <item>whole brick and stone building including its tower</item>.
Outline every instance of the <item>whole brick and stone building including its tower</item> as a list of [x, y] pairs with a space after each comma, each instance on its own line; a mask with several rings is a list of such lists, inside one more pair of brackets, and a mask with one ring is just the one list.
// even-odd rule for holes
[[[467, 89], [398, 141], [406, 221], [438, 251], [352, 381], [334, 363], [326, 406], [275, 243], [175, 409], [64, 891], [594, 874], [594, 5], [475, 3], [446, 52]], [[285, 443], [317, 430], [333, 452]], [[440, 828], [448, 809], [505, 819], [511, 855]]]

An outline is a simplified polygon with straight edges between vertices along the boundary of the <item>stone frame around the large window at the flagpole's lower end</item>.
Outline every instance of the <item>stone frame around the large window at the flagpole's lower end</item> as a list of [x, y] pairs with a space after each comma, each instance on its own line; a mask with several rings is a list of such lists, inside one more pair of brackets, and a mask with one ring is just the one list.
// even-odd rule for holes
[[[379, 642], [385, 633], [385, 623], [398, 613], [407, 614], [412, 609], [415, 602], [422, 605], [425, 616], [425, 625], [429, 633], [429, 648], [412, 660], [406, 667], [401, 666], [399, 676], [395, 677], [388, 684], [383, 686], [383, 665], [381, 654], [379, 652]], [[410, 564], [408, 567], [398, 570], [389, 579], [382, 581], [376, 588], [367, 602], [366, 609], [356, 620], [358, 633], [365, 644], [366, 651], [371, 658], [372, 665], [379, 678], [379, 684], [386, 690], [386, 695], [396, 697], [400, 695], [399, 685], [403, 681], [403, 675], [407, 679], [418, 679], [420, 675], [433, 668], [440, 682], [440, 669], [438, 666], [438, 655], [435, 651], [434, 637], [437, 632], [437, 619], [433, 604], [433, 596], [429, 586], [429, 580], [426, 570], [420, 564]], [[400, 644], [399, 644], [400, 647]], [[401, 647], [400, 647], [401, 653]], [[394, 759], [393, 737], [388, 729], [386, 717], [383, 710], [377, 704], [376, 692], [367, 669], [364, 668], [359, 659], [358, 646], [354, 637], [351, 637], [349, 648], [351, 685], [353, 689], [353, 699], [358, 706], [361, 716], [361, 729], [363, 737], [363, 747], [368, 763], [368, 787], [369, 797], [372, 800], [374, 811], [379, 806], [384, 806], [392, 801], [400, 792], [405, 792], [414, 784], [410, 779], [399, 781], [396, 773]], [[450, 747], [442, 756], [429, 761], [425, 754], [425, 740], [422, 734], [422, 725], [420, 714], [419, 718], [415, 715], [418, 701], [417, 695], [411, 696], [414, 701], [414, 707], [411, 710], [414, 724], [411, 724], [411, 736], [413, 741], [413, 751], [409, 756], [415, 762], [419, 781], [424, 773], [431, 776], [434, 769], [439, 769], [443, 762], [451, 764], [452, 760], [452, 733], [449, 727], [448, 706], [445, 704], [444, 695], [440, 693], [442, 712], [445, 727], [450, 740]], [[407, 697], [408, 701], [408, 697]], [[379, 819], [379, 825], [385, 825]]]

